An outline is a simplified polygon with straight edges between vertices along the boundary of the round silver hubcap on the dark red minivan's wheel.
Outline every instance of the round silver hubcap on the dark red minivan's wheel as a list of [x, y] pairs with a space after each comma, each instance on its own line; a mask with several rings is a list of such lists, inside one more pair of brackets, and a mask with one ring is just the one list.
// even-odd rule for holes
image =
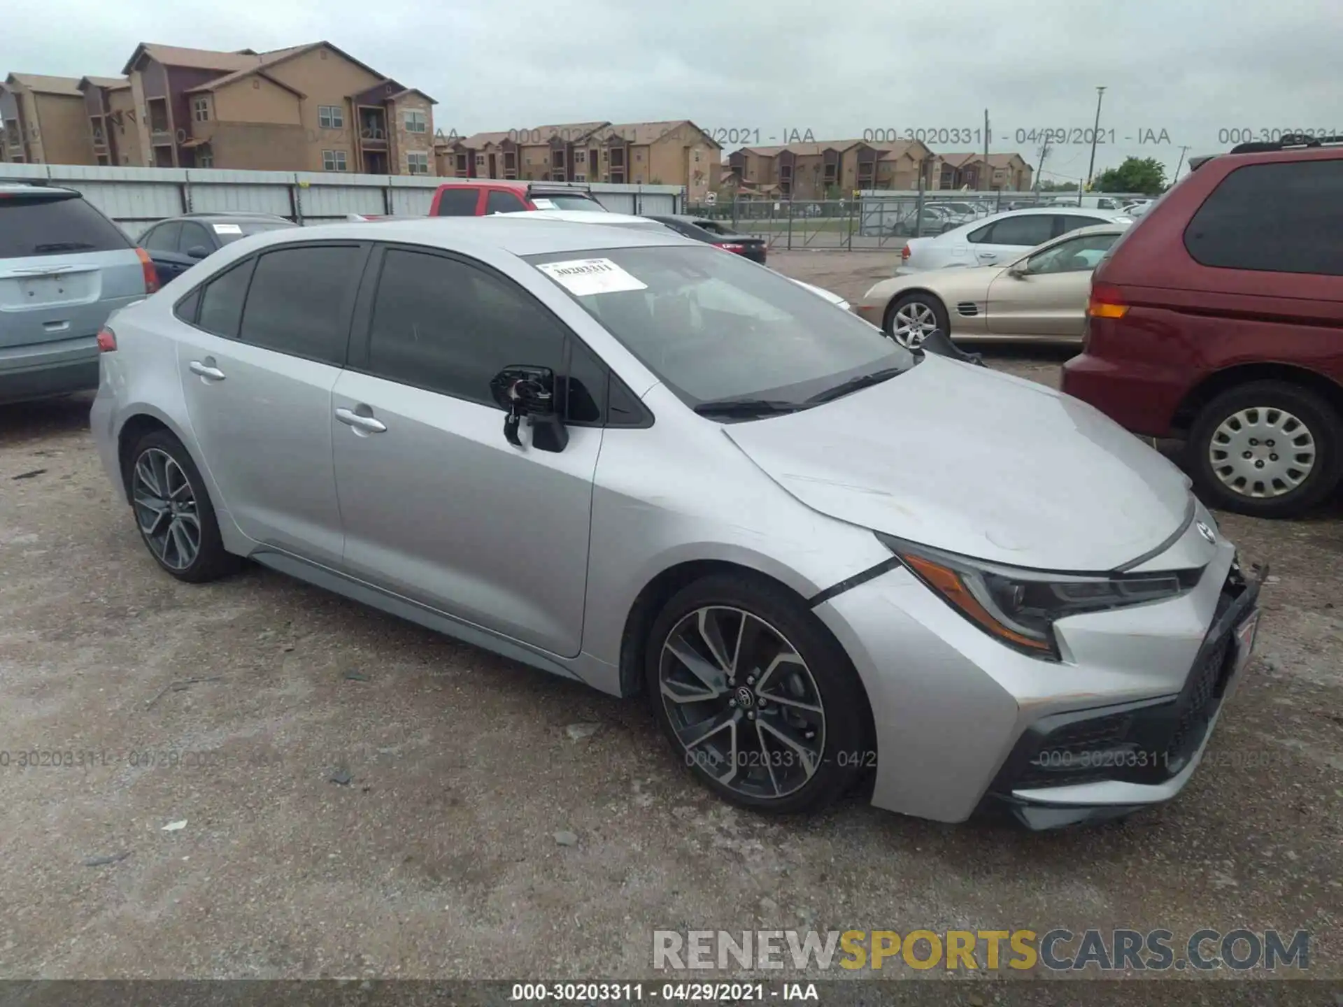
[[1305, 482], [1315, 467], [1315, 438], [1285, 410], [1241, 410], [1213, 431], [1207, 461], [1233, 493], [1281, 497]]

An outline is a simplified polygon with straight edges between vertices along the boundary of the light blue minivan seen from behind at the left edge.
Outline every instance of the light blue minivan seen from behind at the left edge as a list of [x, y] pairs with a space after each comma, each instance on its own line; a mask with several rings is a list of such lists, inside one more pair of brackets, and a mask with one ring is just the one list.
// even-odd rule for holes
[[74, 189], [0, 183], [0, 403], [98, 387], [98, 329], [158, 289], [144, 250]]

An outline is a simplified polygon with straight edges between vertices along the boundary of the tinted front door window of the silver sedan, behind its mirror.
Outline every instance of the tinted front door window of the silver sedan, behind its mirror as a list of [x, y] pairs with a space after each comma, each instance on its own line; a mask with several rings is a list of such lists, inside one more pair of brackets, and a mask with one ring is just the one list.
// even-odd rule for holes
[[455, 259], [392, 248], [373, 299], [368, 367], [392, 381], [494, 404], [509, 364], [563, 371], [564, 332], [522, 290]]

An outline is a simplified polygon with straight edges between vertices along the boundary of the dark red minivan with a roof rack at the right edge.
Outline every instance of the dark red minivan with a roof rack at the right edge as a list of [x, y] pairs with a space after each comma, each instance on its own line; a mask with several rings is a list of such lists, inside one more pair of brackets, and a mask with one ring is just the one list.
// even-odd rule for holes
[[1289, 517], [1343, 474], [1343, 137], [1191, 161], [1092, 277], [1064, 391], [1183, 438], [1211, 506]]

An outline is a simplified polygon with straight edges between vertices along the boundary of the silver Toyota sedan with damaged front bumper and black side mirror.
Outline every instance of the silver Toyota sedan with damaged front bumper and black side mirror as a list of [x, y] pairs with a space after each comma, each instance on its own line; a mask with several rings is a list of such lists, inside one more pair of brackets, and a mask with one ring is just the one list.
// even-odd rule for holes
[[749, 808], [1187, 783], [1258, 577], [1172, 463], [739, 255], [526, 216], [254, 235], [118, 311], [91, 426], [153, 560], [642, 693]]

